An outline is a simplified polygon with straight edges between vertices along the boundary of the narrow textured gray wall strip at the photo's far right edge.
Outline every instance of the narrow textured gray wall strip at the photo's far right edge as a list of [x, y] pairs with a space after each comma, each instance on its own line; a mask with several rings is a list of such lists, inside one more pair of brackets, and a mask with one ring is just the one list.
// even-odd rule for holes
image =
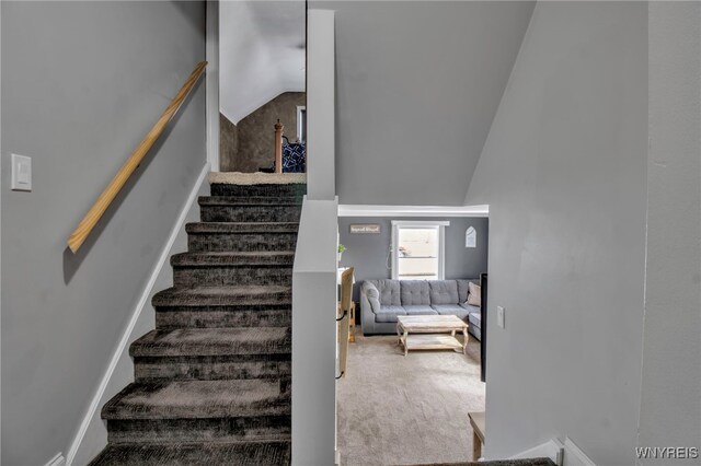
[[[701, 446], [701, 3], [650, 3], [639, 446]], [[645, 464], [699, 464], [699, 459]]]

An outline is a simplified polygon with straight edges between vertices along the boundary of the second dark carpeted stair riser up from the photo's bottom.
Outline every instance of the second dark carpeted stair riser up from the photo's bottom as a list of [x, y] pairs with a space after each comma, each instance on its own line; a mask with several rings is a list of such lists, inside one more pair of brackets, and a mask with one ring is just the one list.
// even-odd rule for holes
[[286, 360], [241, 360], [235, 357], [134, 358], [135, 377], [152, 380], [216, 381], [231, 378], [289, 378], [291, 363]]

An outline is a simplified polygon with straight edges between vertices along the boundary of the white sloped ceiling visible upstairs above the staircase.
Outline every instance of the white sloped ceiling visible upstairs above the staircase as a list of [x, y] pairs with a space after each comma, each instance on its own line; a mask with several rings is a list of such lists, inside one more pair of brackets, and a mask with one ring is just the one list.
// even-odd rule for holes
[[304, 90], [304, 2], [222, 1], [219, 109], [234, 124], [283, 92]]

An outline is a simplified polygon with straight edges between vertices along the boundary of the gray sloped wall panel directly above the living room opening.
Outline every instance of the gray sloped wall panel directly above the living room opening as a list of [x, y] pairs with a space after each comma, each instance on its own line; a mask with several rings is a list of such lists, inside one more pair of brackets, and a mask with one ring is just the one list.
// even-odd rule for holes
[[338, 202], [461, 206], [533, 2], [309, 7], [336, 11]]

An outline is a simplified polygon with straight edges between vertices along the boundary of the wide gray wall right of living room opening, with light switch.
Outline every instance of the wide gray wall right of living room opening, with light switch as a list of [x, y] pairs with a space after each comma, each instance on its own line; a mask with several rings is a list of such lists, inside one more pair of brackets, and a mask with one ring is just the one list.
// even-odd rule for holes
[[646, 166], [647, 4], [539, 2], [467, 199], [490, 205], [490, 312], [506, 308], [487, 457], [568, 435], [635, 462]]

